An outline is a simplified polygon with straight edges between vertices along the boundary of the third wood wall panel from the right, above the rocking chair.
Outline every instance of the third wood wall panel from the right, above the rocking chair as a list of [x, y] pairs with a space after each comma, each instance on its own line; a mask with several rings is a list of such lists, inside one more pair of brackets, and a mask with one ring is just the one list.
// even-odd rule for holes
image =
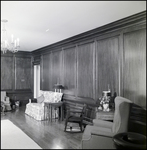
[[77, 96], [94, 98], [94, 42], [77, 49]]

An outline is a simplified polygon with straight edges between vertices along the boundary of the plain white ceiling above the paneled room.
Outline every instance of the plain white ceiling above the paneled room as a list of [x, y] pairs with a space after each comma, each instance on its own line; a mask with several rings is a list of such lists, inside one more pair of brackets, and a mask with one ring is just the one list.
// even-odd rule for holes
[[[33, 51], [146, 10], [146, 1], [1, 1], [21, 51]], [[2, 25], [1, 25], [2, 26]]]

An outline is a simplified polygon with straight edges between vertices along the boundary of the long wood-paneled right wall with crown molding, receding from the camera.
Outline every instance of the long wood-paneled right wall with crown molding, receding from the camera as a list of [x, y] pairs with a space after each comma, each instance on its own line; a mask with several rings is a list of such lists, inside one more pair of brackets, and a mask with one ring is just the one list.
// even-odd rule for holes
[[42, 90], [54, 91], [59, 82], [66, 102], [95, 106], [109, 85], [112, 95], [116, 92], [134, 102], [129, 130], [140, 132], [139, 127], [146, 127], [146, 11], [38, 49], [32, 55], [42, 57], [42, 74], [47, 72], [41, 76]]

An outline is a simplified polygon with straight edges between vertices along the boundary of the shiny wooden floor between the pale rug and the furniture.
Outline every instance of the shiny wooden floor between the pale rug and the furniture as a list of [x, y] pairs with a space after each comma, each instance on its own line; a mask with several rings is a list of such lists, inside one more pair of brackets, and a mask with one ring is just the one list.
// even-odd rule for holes
[[24, 112], [25, 106], [16, 108], [1, 115], [1, 120], [12, 121], [42, 149], [81, 149], [83, 133], [64, 132], [64, 121], [36, 121]]

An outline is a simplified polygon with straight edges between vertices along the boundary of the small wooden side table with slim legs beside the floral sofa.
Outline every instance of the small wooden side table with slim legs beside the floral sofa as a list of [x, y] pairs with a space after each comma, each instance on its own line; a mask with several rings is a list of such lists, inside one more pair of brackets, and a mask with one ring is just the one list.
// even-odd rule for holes
[[[47, 108], [47, 111], [49, 113], [49, 120], [51, 120], [51, 122], [52, 122], [52, 108], [59, 108], [60, 107], [60, 117], [58, 114], [58, 119], [61, 118], [61, 120], [63, 121], [63, 118], [64, 118], [64, 116], [63, 116], [64, 115], [64, 113], [63, 113], [63, 102], [56, 102], [56, 103], [44, 102], [44, 115], [46, 115], [45, 107]], [[56, 114], [55, 114], [55, 120], [56, 120]]]

